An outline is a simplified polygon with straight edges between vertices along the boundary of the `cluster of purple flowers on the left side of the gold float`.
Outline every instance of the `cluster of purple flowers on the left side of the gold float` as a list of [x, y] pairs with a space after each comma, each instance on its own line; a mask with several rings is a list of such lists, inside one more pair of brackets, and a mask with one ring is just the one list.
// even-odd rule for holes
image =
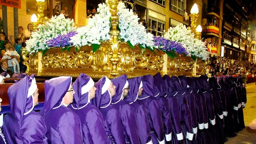
[[50, 39], [46, 41], [46, 44], [48, 47], [69, 47], [72, 45], [71, 42], [69, 42], [71, 39], [71, 37], [73, 37], [75, 34], [77, 34], [76, 32], [72, 31], [69, 32], [65, 35], [58, 35], [56, 38]]

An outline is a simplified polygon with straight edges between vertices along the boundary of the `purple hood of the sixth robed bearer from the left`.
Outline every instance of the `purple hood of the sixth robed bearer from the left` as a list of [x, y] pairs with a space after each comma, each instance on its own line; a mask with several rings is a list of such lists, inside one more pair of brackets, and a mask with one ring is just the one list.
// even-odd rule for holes
[[138, 98], [138, 90], [142, 87], [142, 77], [128, 79], [128, 83], [130, 86], [130, 90], [127, 97], [123, 100], [129, 104], [132, 104]]

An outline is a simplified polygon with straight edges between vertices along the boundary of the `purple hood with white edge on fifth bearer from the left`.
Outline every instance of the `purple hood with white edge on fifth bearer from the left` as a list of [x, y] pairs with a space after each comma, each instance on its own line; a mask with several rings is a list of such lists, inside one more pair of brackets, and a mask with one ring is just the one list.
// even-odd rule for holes
[[115, 95], [112, 97], [112, 104], [116, 104], [121, 101], [123, 95], [123, 89], [129, 86], [127, 81], [127, 75], [121, 75], [115, 79], [112, 79], [113, 85], [115, 86]]

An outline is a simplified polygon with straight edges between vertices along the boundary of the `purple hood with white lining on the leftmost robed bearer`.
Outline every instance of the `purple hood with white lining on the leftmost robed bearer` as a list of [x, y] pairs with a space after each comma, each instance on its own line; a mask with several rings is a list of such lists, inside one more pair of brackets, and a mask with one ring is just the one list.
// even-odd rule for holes
[[18, 125], [21, 125], [23, 115], [29, 114], [34, 108], [33, 94], [35, 90], [37, 90], [35, 79], [29, 76], [25, 76], [8, 88], [11, 114]]

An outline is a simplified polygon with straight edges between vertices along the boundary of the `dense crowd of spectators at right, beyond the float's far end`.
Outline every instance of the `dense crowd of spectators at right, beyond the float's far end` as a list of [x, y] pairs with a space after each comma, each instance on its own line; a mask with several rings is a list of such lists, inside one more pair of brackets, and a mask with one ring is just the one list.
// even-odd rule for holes
[[254, 63], [215, 55], [212, 57], [211, 54], [209, 56], [209, 64], [206, 68], [206, 74], [209, 75], [209, 77], [219, 75], [242, 75], [243, 81], [246, 84], [248, 75], [256, 75], [256, 64]]

